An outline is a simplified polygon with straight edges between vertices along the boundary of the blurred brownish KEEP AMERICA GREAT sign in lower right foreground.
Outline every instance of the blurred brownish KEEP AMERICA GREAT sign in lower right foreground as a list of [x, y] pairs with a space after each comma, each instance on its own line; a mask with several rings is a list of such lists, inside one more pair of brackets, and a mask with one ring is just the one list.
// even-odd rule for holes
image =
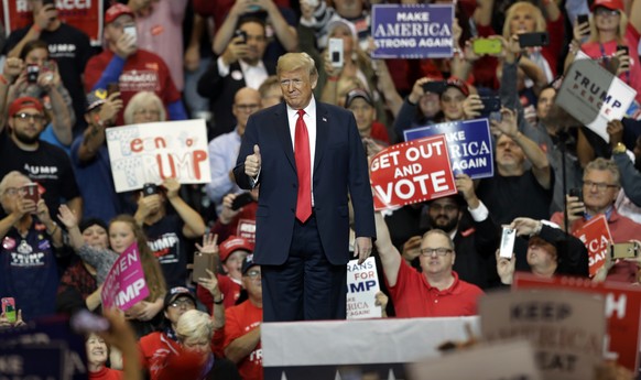
[[589, 380], [602, 358], [604, 298], [568, 291], [514, 291], [479, 298], [488, 341], [528, 338], [545, 379]]

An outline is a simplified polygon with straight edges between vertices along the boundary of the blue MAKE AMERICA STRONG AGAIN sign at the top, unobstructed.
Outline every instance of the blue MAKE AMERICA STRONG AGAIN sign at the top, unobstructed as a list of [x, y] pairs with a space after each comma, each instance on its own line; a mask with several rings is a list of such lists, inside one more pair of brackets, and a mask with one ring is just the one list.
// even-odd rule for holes
[[452, 4], [377, 4], [372, 7], [373, 58], [453, 56]]

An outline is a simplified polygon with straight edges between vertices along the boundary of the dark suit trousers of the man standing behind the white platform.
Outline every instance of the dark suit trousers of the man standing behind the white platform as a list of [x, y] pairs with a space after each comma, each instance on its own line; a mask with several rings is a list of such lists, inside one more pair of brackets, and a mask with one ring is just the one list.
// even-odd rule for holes
[[295, 221], [287, 261], [261, 271], [264, 322], [345, 319], [347, 265], [327, 261], [314, 215]]

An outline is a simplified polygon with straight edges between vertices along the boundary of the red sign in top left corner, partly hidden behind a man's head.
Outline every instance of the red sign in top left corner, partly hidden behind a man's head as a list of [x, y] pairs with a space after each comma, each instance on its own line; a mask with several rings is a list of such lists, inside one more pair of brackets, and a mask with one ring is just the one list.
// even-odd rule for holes
[[[102, 44], [102, 1], [100, 0], [56, 0], [58, 19], [85, 32], [91, 45]], [[4, 31], [29, 26], [33, 23], [33, 13], [29, 0], [2, 0], [4, 12]]]

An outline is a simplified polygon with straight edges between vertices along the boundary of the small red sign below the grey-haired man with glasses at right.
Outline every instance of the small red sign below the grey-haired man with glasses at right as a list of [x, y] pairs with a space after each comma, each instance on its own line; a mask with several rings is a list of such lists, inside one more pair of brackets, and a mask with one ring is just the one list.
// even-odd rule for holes
[[583, 228], [572, 235], [578, 238], [588, 250], [590, 278], [606, 263], [606, 254], [609, 253], [612, 236], [605, 215], [599, 215], [586, 222]]

